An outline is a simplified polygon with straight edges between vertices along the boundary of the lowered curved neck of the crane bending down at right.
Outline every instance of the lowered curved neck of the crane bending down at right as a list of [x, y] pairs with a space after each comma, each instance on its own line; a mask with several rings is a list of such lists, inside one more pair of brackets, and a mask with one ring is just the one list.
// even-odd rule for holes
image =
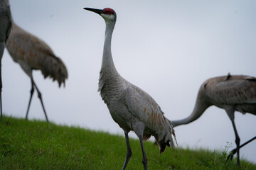
[[201, 100], [200, 96], [198, 96], [196, 100], [196, 106], [193, 109], [193, 112], [191, 115], [189, 115], [187, 118], [181, 119], [181, 120], [172, 120], [171, 125], [178, 126], [178, 125], [186, 125], [188, 123], [193, 122], [194, 120], [198, 119], [204, 111], [210, 106], [210, 104], [205, 103]]

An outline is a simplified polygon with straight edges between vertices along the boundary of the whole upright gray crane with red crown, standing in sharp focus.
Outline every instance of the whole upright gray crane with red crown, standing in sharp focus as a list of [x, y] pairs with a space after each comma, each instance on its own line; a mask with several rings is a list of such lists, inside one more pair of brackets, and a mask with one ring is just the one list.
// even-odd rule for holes
[[132, 149], [129, 145], [129, 131], [133, 130], [142, 147], [142, 164], [147, 169], [147, 158], [143, 142], [151, 135], [156, 138], [160, 153], [164, 152], [166, 146], [174, 147], [175, 133], [171, 121], [164, 116], [159, 105], [149, 94], [129, 83], [121, 77], [114, 67], [111, 53], [111, 39], [116, 23], [117, 14], [112, 8], [102, 10], [95, 8], [84, 8], [100, 14], [106, 23], [105, 43], [103, 48], [102, 67], [100, 70], [99, 89], [103, 101], [113, 120], [124, 130], [127, 142], [127, 157], [122, 169], [125, 169], [129, 158], [132, 156]]

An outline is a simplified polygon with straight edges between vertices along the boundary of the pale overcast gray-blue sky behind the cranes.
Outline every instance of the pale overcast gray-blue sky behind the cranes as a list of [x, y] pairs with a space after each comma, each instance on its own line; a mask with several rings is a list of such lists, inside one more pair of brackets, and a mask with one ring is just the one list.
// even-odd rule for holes
[[[191, 114], [206, 79], [228, 72], [256, 77], [256, 1], [9, 1], [14, 21], [50, 45], [68, 67], [68, 81], [61, 89], [33, 72], [54, 123], [123, 135], [97, 92], [105, 21], [84, 7], [116, 11], [115, 66], [122, 77], [150, 94], [170, 120]], [[7, 51], [2, 81], [4, 114], [25, 117], [31, 81]], [[45, 120], [36, 93], [28, 118]], [[256, 135], [255, 122], [255, 115], [235, 113], [241, 143]], [[195, 122], [177, 127], [176, 137], [181, 147], [222, 151], [226, 142], [235, 147], [228, 115], [215, 106]], [[256, 141], [240, 155], [256, 162], [255, 150]]]

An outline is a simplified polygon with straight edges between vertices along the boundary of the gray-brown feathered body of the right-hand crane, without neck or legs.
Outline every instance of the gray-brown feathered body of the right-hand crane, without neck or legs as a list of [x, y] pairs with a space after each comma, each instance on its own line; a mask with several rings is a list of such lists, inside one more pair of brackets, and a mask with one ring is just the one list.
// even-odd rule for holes
[[204, 100], [220, 108], [233, 107], [241, 113], [256, 114], [256, 78], [243, 75], [206, 80], [201, 91]]

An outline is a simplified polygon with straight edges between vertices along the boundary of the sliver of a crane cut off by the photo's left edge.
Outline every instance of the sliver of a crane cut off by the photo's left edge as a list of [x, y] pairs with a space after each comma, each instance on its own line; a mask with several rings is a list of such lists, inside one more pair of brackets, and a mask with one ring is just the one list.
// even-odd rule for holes
[[4, 54], [4, 47], [6, 45], [6, 41], [8, 39], [10, 31], [11, 31], [11, 10], [9, 6], [9, 0], [1, 0], [0, 1], [0, 107], [1, 107], [0, 121], [3, 118], [2, 98], [1, 98], [1, 90], [3, 86], [1, 81], [1, 59]]

